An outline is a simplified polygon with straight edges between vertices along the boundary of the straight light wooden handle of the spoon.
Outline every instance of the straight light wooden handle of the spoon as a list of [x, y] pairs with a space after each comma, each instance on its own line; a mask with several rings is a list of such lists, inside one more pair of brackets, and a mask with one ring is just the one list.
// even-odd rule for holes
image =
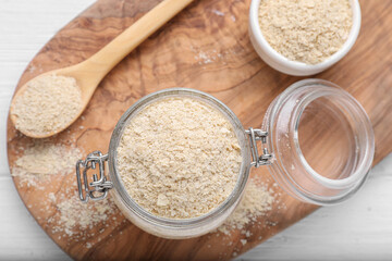
[[84, 61], [84, 65], [100, 82], [123, 58], [192, 1], [164, 0], [160, 2], [106, 47]]

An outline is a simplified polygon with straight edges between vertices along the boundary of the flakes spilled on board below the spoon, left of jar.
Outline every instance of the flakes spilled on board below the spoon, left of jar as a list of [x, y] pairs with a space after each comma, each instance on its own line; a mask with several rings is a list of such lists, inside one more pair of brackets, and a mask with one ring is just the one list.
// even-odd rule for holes
[[[87, 241], [85, 247], [91, 248], [109, 225], [115, 227], [125, 219], [119, 217], [121, 213], [111, 199], [88, 203], [78, 199], [74, 172], [83, 153], [72, 146], [74, 140], [68, 142], [71, 147], [52, 139], [33, 139], [30, 146], [20, 149], [22, 156], [11, 172], [20, 187], [41, 190], [41, 200], [27, 208], [40, 212], [37, 221], [53, 238], [65, 240], [68, 246]], [[58, 181], [62, 181], [60, 188], [50, 185]]]

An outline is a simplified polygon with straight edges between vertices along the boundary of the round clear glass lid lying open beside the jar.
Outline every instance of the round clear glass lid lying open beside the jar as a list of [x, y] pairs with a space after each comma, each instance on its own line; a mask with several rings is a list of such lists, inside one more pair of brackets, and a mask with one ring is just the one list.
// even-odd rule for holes
[[316, 204], [341, 202], [371, 167], [371, 123], [348, 92], [322, 79], [297, 82], [270, 104], [262, 123], [269, 172], [291, 196]]

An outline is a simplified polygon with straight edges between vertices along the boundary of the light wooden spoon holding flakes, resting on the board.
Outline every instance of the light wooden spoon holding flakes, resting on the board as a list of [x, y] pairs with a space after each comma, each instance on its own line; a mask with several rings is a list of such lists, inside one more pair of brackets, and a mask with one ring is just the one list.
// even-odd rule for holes
[[[82, 91], [82, 107], [81, 111], [75, 114], [73, 120], [62, 128], [53, 129], [53, 132], [45, 134], [34, 134], [25, 129], [19, 129], [26, 136], [32, 138], [46, 138], [54, 134], [60, 133], [70, 126], [76, 119], [83, 113], [87, 107], [95, 89], [101, 79], [132, 50], [134, 50], [139, 44], [142, 44], [147, 37], [154, 34], [158, 28], [171, 20], [175, 14], [188, 5], [193, 0], [164, 0], [155, 7], [151, 11], [136, 21], [121, 35], [115, 37], [106, 47], [99, 50], [89, 59], [78, 64], [49, 71], [37, 77], [42, 77], [48, 74], [56, 74], [62, 76], [69, 76], [76, 79], [77, 86]], [[35, 78], [37, 78], [35, 77]], [[30, 79], [32, 80], [32, 79]], [[15, 98], [21, 96], [28, 87], [28, 83], [24, 84], [21, 89], [15, 94], [11, 102], [10, 117], [13, 124], [16, 126], [17, 116], [13, 113], [13, 104]]]

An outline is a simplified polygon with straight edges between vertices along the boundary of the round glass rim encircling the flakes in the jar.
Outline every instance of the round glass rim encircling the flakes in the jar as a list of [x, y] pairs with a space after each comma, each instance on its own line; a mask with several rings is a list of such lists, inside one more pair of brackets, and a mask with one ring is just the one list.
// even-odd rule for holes
[[[220, 203], [217, 208], [212, 209], [206, 214], [203, 214], [200, 216], [191, 217], [191, 219], [167, 219], [163, 216], [154, 215], [152, 213], [148, 212], [147, 210], [143, 209], [140, 206], [134, 201], [128, 192], [126, 191], [121, 177], [119, 175], [118, 166], [117, 166], [117, 148], [120, 144], [122, 133], [127, 125], [127, 122], [130, 119], [132, 119], [133, 115], [136, 115], [137, 112], [143, 110], [146, 105], [156, 102], [160, 99], [168, 98], [168, 97], [189, 97], [194, 99], [200, 99], [201, 101], [208, 103], [209, 105], [213, 107], [215, 109], [219, 110], [232, 124], [233, 129], [238, 138], [240, 145], [241, 145], [241, 153], [242, 153], [242, 163], [241, 169], [238, 172], [237, 182], [235, 184], [235, 187], [233, 191], [230, 194], [230, 196]], [[156, 92], [152, 92], [148, 96], [143, 97], [138, 101], [136, 101], [131, 108], [126, 110], [126, 112], [121, 116], [118, 124], [114, 127], [114, 130], [112, 133], [112, 137], [110, 139], [109, 145], [109, 176], [111, 182], [113, 183], [114, 190], [119, 194], [120, 199], [122, 200], [122, 203], [124, 203], [127, 209], [133, 212], [133, 214], [137, 215], [138, 217], [148, 220], [149, 222], [152, 222], [157, 226], [161, 226], [164, 228], [175, 227], [176, 231], [179, 229], [191, 229], [193, 226], [197, 227], [200, 224], [210, 222], [210, 219], [213, 219], [216, 216], [222, 215], [223, 212], [225, 212], [230, 208], [235, 208], [237, 203], [237, 199], [241, 198], [246, 182], [248, 179], [249, 175], [249, 169], [250, 169], [250, 150], [248, 148], [248, 142], [245, 137], [245, 130], [237, 119], [237, 116], [220, 100], [217, 98], [199, 91], [195, 89], [189, 88], [169, 88], [159, 90]], [[161, 235], [162, 236], [162, 235]]]

